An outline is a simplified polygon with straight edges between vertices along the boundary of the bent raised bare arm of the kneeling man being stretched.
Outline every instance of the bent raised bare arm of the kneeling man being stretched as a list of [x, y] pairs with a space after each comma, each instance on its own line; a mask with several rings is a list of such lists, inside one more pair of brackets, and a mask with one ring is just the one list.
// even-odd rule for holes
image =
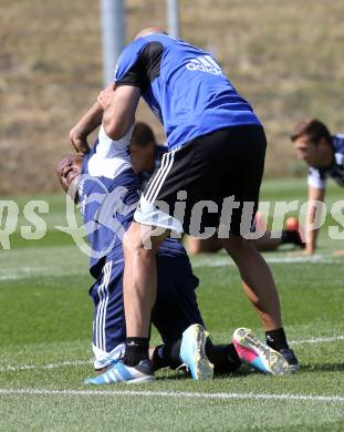
[[70, 138], [76, 152], [90, 152], [87, 136], [102, 124], [102, 120], [103, 106], [96, 101], [70, 131]]

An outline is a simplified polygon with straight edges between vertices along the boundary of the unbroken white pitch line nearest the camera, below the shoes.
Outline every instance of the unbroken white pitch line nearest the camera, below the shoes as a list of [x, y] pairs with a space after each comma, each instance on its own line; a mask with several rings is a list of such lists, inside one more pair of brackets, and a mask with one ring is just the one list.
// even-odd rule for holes
[[0, 395], [76, 395], [76, 397], [152, 397], [152, 398], [190, 398], [219, 400], [275, 400], [275, 401], [311, 401], [344, 402], [342, 395], [315, 394], [264, 394], [264, 393], [200, 393], [186, 391], [134, 391], [134, 390], [49, 390], [49, 389], [0, 389]]

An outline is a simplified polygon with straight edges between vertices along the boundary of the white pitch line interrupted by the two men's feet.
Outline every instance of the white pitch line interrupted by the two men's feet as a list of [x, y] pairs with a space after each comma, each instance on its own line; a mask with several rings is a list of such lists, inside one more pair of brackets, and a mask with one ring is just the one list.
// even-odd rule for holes
[[[320, 337], [320, 338], [310, 338], [310, 339], [296, 339], [291, 340], [290, 344], [304, 344], [304, 343], [314, 343], [314, 344], [321, 344], [321, 343], [331, 343], [331, 342], [340, 342], [344, 341], [344, 335], [340, 336], [331, 336], [331, 337]], [[58, 369], [58, 368], [65, 368], [65, 367], [79, 367], [79, 366], [87, 366], [92, 364], [92, 360], [74, 360], [74, 361], [62, 361], [56, 363], [48, 363], [48, 364], [18, 364], [18, 366], [4, 366], [0, 367], [0, 373], [1, 372], [19, 372], [24, 370], [49, 370], [49, 369]]]

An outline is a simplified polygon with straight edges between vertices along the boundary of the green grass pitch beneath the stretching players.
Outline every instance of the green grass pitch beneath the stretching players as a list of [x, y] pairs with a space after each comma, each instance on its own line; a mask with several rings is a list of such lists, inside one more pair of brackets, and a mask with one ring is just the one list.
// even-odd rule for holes
[[[263, 199], [294, 199], [304, 182], [264, 185]], [[327, 203], [342, 191], [329, 188]], [[65, 225], [60, 196], [41, 215], [41, 240], [23, 240], [0, 255], [1, 431], [300, 431], [344, 430], [344, 249], [322, 230], [316, 256], [290, 256], [290, 247], [265, 254], [278, 281], [284, 325], [300, 362], [299, 373], [267, 377], [246, 370], [192, 382], [171, 371], [149, 384], [88, 388], [92, 374], [92, 305], [87, 258], [53, 228]], [[20, 197], [20, 208], [28, 200]], [[326, 219], [330, 224], [331, 219]], [[19, 226], [24, 224], [20, 219]], [[28, 225], [28, 223], [25, 223]], [[260, 323], [223, 254], [192, 259], [198, 298], [216, 342], [237, 327]], [[153, 341], [158, 342], [156, 332]]]

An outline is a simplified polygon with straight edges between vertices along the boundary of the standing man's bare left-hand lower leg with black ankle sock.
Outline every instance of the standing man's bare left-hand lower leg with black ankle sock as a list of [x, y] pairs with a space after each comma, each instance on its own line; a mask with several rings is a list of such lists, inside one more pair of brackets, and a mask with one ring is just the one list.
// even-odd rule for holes
[[[152, 236], [152, 228], [132, 223], [124, 236], [124, 309], [126, 321], [126, 349], [124, 363], [136, 366], [148, 359], [150, 313], [156, 299], [156, 253], [169, 235], [166, 230]], [[146, 241], [150, 243], [145, 248]]]

